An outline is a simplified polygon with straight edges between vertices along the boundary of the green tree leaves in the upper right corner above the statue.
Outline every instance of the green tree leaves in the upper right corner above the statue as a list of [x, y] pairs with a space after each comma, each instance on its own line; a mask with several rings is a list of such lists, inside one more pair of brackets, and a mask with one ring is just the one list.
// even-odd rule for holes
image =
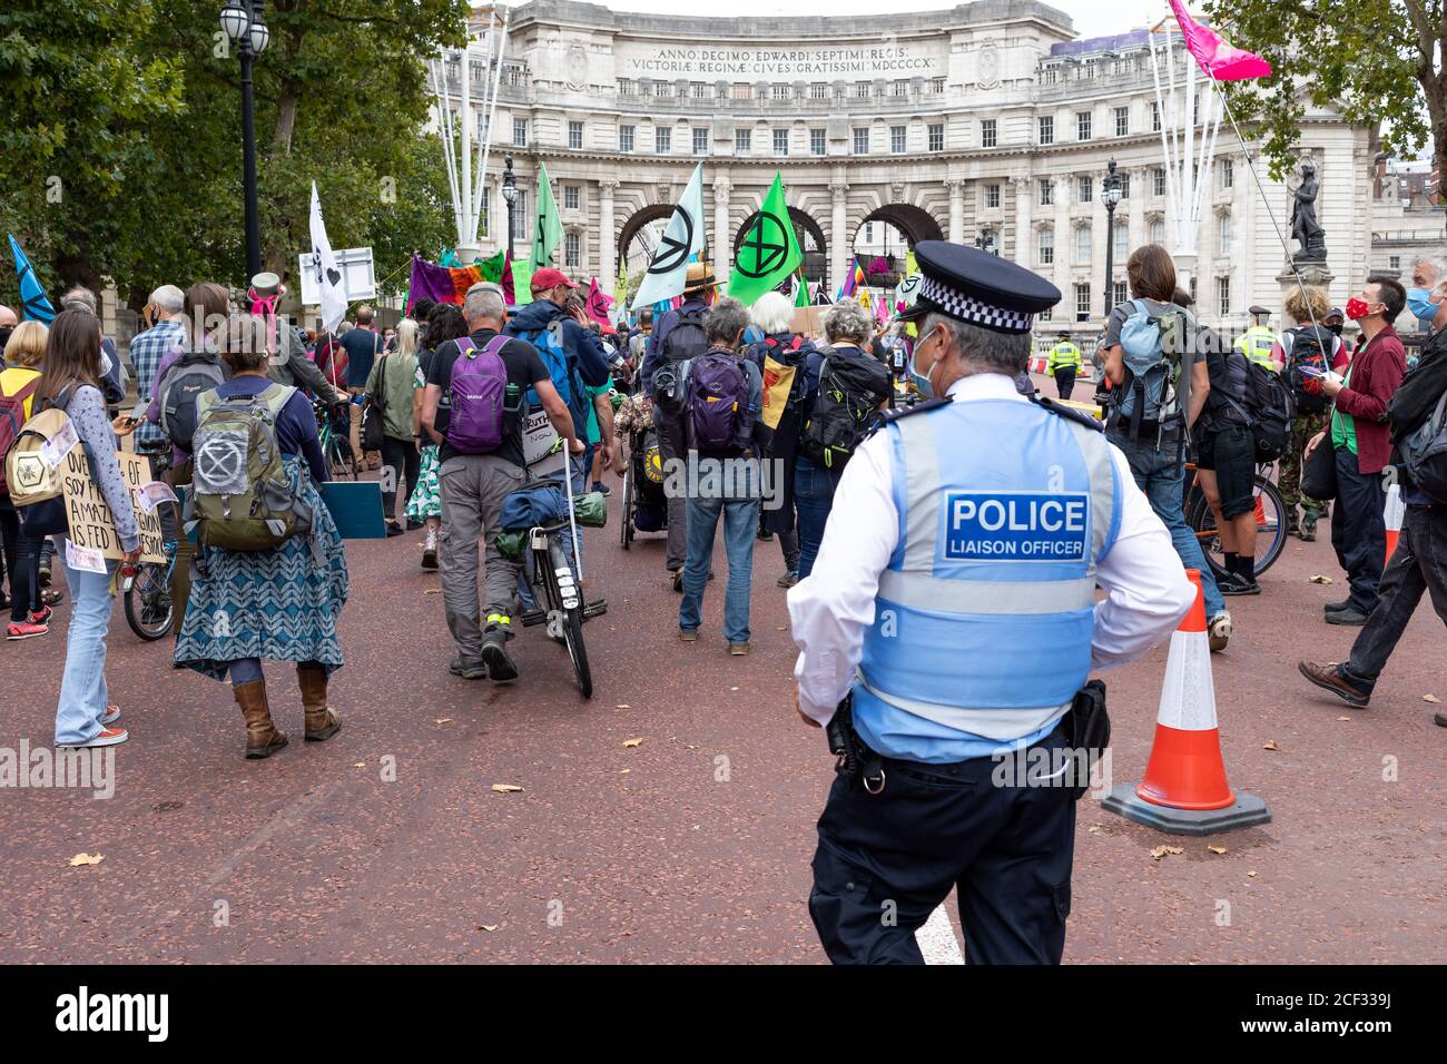
[[1273, 178], [1292, 165], [1310, 101], [1373, 129], [1379, 146], [1412, 156], [1431, 138], [1447, 174], [1447, 4], [1443, 0], [1208, 0], [1207, 22], [1273, 74], [1227, 87], [1237, 119], [1253, 123]]

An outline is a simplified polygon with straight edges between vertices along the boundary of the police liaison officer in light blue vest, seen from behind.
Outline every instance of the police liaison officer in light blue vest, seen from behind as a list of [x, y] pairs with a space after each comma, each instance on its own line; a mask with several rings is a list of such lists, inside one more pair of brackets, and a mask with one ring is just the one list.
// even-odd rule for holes
[[1091, 669], [1166, 638], [1192, 585], [1098, 424], [1014, 388], [1059, 291], [974, 248], [915, 258], [936, 398], [858, 447], [789, 592], [797, 709], [841, 753], [809, 912], [835, 963], [917, 964], [958, 887], [971, 963], [1058, 963], [1084, 780], [994, 756], [1064, 750]]

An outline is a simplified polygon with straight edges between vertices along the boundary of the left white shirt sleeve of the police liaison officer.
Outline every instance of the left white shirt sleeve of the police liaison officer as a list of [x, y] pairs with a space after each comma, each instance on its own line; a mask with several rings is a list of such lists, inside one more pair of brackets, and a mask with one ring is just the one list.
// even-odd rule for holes
[[874, 624], [880, 573], [899, 541], [887, 430], [871, 436], [844, 469], [813, 572], [789, 592], [799, 662], [799, 706], [828, 724], [849, 693]]

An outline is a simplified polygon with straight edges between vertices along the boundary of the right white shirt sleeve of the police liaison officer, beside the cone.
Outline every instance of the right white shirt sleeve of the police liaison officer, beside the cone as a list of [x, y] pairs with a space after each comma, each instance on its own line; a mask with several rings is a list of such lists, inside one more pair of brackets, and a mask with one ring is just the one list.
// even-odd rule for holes
[[1114, 444], [1110, 457], [1121, 494], [1120, 531], [1095, 572], [1106, 599], [1095, 605], [1092, 669], [1136, 660], [1165, 640], [1195, 602], [1171, 533], [1136, 486], [1130, 463]]

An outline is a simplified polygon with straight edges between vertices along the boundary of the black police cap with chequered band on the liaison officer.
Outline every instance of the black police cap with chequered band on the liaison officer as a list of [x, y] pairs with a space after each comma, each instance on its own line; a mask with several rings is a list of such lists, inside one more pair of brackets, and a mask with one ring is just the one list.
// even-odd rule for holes
[[1029, 333], [1035, 316], [1061, 301], [1061, 290], [1009, 259], [946, 240], [915, 245], [920, 285], [915, 305], [900, 317], [926, 314], [968, 321], [996, 333]]

